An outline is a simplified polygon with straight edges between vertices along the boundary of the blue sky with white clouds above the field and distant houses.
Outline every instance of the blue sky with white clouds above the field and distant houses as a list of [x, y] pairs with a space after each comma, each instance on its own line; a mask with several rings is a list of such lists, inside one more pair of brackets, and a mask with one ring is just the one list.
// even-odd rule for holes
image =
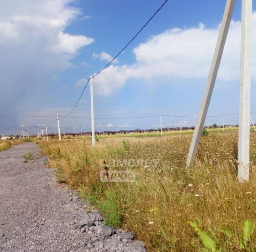
[[[160, 0], [0, 0], [0, 134], [57, 132], [102, 69], [161, 6]], [[225, 1], [169, 0], [133, 42], [93, 79], [95, 130], [193, 126]], [[253, 6], [251, 111], [256, 111]], [[208, 116], [238, 114], [241, 1], [237, 1]], [[256, 121], [256, 113], [252, 113]], [[21, 118], [15, 116], [50, 116]], [[62, 133], [91, 130], [89, 85]], [[186, 117], [187, 116], [187, 117]], [[238, 116], [208, 117], [233, 125]]]

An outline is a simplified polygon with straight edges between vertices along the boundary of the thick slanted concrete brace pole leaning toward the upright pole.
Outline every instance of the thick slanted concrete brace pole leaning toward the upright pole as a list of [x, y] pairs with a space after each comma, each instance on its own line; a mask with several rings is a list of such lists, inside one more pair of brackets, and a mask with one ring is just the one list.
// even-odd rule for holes
[[204, 96], [201, 104], [201, 108], [197, 117], [196, 127], [193, 133], [190, 150], [187, 157], [187, 166], [194, 160], [194, 156], [197, 151], [199, 144], [200, 136], [203, 130], [204, 121], [206, 120], [207, 111], [209, 108], [210, 98], [212, 97], [213, 87], [219, 70], [220, 60], [222, 58], [222, 53], [224, 45], [226, 42], [226, 37], [228, 35], [229, 25], [234, 10], [235, 0], [227, 0], [226, 6], [223, 14], [222, 23], [220, 26], [219, 36], [213, 55], [212, 65], [210, 67], [210, 72], [206, 84], [206, 89], [204, 91]]

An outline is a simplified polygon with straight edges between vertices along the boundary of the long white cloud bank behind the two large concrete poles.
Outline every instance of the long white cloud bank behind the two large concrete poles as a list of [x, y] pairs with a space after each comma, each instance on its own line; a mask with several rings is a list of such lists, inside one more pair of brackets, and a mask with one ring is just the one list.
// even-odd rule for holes
[[[256, 42], [256, 12], [253, 13], [253, 41]], [[240, 73], [239, 21], [231, 21], [218, 72], [218, 80], [239, 80]], [[98, 94], [111, 95], [128, 80], [150, 81], [156, 77], [207, 78], [219, 27], [174, 28], [151, 36], [133, 49], [136, 62], [132, 65], [109, 66], [94, 78]], [[256, 50], [252, 50], [252, 74], [256, 77]]]

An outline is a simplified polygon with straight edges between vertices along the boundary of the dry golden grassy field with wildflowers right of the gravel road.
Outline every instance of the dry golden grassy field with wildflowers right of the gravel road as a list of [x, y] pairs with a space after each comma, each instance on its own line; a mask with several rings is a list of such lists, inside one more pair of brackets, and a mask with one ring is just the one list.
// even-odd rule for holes
[[[106, 224], [135, 232], [149, 251], [254, 251], [255, 232], [247, 237], [245, 225], [243, 236], [243, 226], [248, 219], [256, 223], [256, 133], [251, 131], [248, 183], [236, 181], [236, 131], [202, 136], [196, 162], [186, 169], [191, 137], [102, 137], [95, 147], [89, 138], [53, 139], [39, 145], [49, 166], [59, 169], [59, 182], [96, 204]], [[141, 161], [154, 159], [159, 162]], [[104, 169], [135, 170], [136, 180], [100, 182]]]

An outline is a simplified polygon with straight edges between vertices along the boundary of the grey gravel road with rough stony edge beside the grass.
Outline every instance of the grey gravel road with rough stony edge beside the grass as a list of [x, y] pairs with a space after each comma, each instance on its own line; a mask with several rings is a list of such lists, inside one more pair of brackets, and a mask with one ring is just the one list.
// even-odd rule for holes
[[[28, 151], [33, 158], [24, 163]], [[35, 143], [0, 152], [0, 251], [145, 251], [55, 181]]]

